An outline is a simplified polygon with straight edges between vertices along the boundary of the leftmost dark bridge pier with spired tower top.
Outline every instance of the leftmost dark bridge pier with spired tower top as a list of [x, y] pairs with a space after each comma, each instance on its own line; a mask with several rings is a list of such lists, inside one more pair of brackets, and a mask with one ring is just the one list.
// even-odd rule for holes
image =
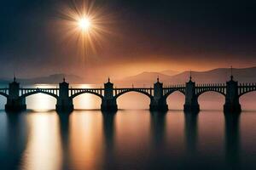
[[20, 83], [14, 82], [9, 83], [9, 96], [5, 105], [5, 111], [26, 111], [26, 99], [20, 98]]

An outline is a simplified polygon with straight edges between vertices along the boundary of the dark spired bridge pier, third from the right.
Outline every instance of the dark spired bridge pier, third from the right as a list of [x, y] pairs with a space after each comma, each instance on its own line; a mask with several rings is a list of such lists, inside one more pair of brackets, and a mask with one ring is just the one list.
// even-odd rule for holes
[[168, 111], [166, 98], [163, 96], [163, 83], [159, 82], [159, 78], [157, 78], [157, 82], [154, 83], [154, 97], [150, 99], [149, 110]]

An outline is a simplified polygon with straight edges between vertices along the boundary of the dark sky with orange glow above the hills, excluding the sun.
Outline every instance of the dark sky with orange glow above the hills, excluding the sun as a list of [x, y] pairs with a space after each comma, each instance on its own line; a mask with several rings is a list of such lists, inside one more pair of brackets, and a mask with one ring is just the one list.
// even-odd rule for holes
[[0, 76], [66, 73], [125, 77], [142, 71], [206, 71], [256, 65], [256, 1], [95, 0], [108, 33], [81, 54], [67, 35], [79, 0], [0, 3]]

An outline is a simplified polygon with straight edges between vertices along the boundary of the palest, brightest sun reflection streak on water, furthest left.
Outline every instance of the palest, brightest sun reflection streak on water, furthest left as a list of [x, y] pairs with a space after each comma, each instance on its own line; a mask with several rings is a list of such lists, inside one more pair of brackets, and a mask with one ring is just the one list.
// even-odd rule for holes
[[51, 113], [32, 113], [27, 116], [30, 135], [23, 153], [22, 169], [61, 169], [61, 139], [58, 117]]

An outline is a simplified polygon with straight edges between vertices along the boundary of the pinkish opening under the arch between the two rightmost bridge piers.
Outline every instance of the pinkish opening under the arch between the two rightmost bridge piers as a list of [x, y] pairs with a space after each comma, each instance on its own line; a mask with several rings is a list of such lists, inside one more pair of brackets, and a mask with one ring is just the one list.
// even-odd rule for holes
[[197, 100], [201, 110], [222, 111], [225, 103], [225, 94], [207, 90], [199, 95], [197, 94]]

